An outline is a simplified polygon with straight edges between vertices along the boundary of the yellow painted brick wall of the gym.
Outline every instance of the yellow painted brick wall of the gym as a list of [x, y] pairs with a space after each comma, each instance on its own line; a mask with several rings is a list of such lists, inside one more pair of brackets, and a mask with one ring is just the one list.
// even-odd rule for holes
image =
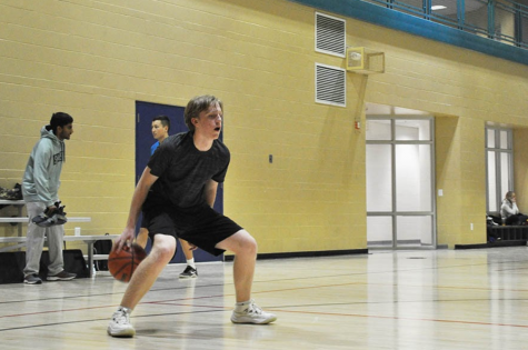
[[[446, 121], [437, 138], [452, 143], [438, 144], [437, 159], [442, 200], [452, 198], [439, 202], [439, 242], [482, 241], [484, 124], [528, 124], [526, 67], [349, 19], [348, 44], [386, 52], [387, 72], [348, 74], [347, 108], [317, 104], [315, 63], [345, 62], [315, 52], [313, 12], [286, 0], [0, 0], [0, 186], [20, 181], [51, 113], [69, 112], [68, 214], [92, 218], [79, 224], [86, 234], [119, 233], [133, 190], [135, 102], [213, 93], [232, 153], [225, 211], [260, 252], [362, 249], [365, 134], [353, 120], [368, 101]], [[451, 203], [467, 211], [455, 222]], [[0, 233], [16, 234], [6, 224]]]

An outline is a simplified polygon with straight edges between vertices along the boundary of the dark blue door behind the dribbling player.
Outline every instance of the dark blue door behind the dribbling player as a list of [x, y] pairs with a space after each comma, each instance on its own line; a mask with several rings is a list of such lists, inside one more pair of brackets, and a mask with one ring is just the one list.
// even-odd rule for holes
[[[183, 120], [183, 107], [178, 106], [136, 101], [136, 183], [138, 183], [139, 178], [143, 173], [145, 167], [149, 162], [150, 147], [156, 143], [151, 132], [152, 119], [161, 114], [167, 116], [170, 119], [169, 134], [185, 132], [189, 129], [187, 128]], [[221, 139], [222, 134], [220, 134], [220, 140]], [[223, 212], [222, 183], [218, 186], [217, 199], [215, 200], [215, 210], [218, 212]], [[137, 232], [139, 232], [140, 222], [141, 220], [138, 221], [138, 227], [136, 230]], [[150, 251], [150, 240], [147, 244], [147, 251]], [[201, 249], [195, 250], [193, 254], [197, 262], [223, 260], [222, 256], [215, 257]], [[181, 251], [179, 242], [178, 251], [176, 252], [176, 256], [172, 258], [171, 262], [186, 262], [186, 257]]]

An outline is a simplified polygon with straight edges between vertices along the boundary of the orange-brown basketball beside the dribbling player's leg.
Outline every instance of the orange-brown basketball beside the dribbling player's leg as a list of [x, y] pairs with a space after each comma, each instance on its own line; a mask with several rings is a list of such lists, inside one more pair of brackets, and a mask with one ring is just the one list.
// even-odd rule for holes
[[147, 252], [136, 243], [132, 247], [123, 246], [119, 253], [114, 248], [108, 254], [108, 271], [118, 281], [128, 282], [138, 264], [147, 257]]

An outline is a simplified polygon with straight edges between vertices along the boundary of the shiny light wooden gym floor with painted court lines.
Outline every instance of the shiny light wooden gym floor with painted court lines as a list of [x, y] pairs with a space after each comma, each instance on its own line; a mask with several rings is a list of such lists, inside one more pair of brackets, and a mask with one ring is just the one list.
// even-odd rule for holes
[[106, 333], [126, 284], [92, 279], [0, 286], [0, 349], [527, 349], [528, 248], [261, 260], [253, 298], [278, 320], [232, 324], [231, 262], [166, 268]]

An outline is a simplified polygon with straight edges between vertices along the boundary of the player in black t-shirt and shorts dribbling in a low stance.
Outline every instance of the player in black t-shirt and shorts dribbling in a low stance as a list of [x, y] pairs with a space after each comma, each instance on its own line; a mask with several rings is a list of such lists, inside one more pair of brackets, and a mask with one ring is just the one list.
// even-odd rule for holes
[[226, 250], [235, 253], [233, 323], [265, 324], [277, 319], [251, 300], [256, 240], [212, 209], [218, 183], [223, 182], [230, 160], [228, 148], [218, 140], [222, 116], [222, 102], [217, 98], [193, 98], [185, 110], [190, 131], [169, 137], [150, 158], [136, 187], [127, 227], [116, 240], [116, 249], [119, 251], [133, 241], [142, 206], [152, 250], [133, 273], [112, 316], [108, 326], [110, 336], [135, 336], [130, 313], [172, 259], [177, 237], [216, 256]]

